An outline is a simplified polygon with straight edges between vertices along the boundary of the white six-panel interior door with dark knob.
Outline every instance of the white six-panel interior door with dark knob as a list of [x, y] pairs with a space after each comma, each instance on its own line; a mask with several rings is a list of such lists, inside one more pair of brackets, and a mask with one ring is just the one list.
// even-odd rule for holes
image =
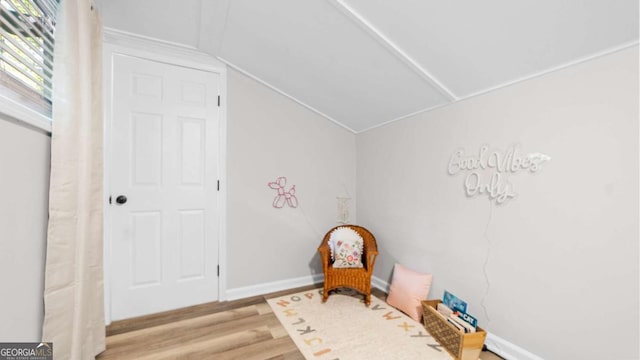
[[112, 320], [215, 301], [219, 75], [116, 55], [112, 79]]

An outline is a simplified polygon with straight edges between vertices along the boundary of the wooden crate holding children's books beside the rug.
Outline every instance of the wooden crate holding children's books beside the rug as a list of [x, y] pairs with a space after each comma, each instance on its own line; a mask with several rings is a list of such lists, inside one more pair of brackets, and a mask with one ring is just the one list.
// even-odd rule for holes
[[438, 303], [441, 302], [440, 300], [422, 301], [424, 327], [456, 360], [478, 360], [487, 337], [486, 331], [480, 327], [475, 333], [465, 334], [458, 330], [436, 310]]

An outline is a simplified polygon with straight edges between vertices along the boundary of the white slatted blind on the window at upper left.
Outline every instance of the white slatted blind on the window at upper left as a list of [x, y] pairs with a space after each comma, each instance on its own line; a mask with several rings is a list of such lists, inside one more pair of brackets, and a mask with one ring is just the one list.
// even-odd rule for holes
[[0, 85], [51, 114], [59, 0], [0, 0]]

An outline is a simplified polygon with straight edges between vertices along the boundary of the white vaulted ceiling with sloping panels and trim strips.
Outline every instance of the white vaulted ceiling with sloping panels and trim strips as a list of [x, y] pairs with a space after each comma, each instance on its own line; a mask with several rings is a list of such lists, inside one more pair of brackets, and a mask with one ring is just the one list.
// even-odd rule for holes
[[353, 132], [638, 44], [637, 0], [98, 0]]

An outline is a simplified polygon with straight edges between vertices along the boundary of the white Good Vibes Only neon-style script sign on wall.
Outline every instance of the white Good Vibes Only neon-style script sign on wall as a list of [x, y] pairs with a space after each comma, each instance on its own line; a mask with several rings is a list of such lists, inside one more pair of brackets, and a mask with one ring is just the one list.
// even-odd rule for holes
[[542, 153], [522, 154], [518, 146], [507, 150], [490, 150], [481, 146], [476, 154], [456, 150], [449, 159], [450, 175], [466, 174], [464, 191], [468, 197], [486, 195], [496, 204], [516, 197], [509, 176], [518, 172], [537, 173], [551, 157]]

